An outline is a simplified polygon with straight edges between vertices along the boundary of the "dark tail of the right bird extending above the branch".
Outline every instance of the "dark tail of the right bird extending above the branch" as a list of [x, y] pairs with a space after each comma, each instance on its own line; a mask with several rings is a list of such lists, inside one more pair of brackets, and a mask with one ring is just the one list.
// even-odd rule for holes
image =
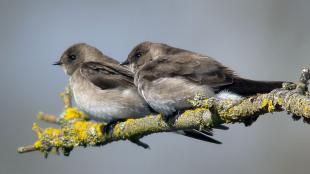
[[234, 82], [230, 85], [223, 86], [221, 90], [228, 90], [233, 93], [249, 96], [257, 93], [268, 93], [276, 88], [282, 87], [282, 81], [255, 81], [243, 78], [235, 78]]

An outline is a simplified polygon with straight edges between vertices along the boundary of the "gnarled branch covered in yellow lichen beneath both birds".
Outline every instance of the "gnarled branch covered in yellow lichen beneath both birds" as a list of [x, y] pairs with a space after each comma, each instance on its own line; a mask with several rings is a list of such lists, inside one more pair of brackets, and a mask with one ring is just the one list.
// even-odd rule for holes
[[[62, 95], [65, 111], [61, 117], [40, 114], [39, 118], [59, 124], [60, 128], [41, 129], [34, 124], [38, 140], [30, 146], [18, 149], [20, 153], [39, 150], [48, 154], [52, 149], [63, 150], [65, 155], [76, 146], [99, 146], [118, 140], [139, 142], [143, 136], [184, 129], [212, 129], [223, 123], [243, 122], [249, 125], [265, 113], [286, 111], [295, 117], [310, 119], [310, 97], [307, 91], [309, 68], [302, 70], [296, 85], [285, 84], [267, 94], [244, 98], [240, 101], [204, 99], [197, 96], [190, 101], [194, 109], [187, 110], [169, 122], [161, 115], [149, 115], [139, 119], [127, 119], [111, 129], [105, 124], [87, 120], [87, 116], [71, 107], [68, 89]], [[293, 86], [293, 87], [292, 87]], [[291, 89], [293, 88], [293, 89]]]

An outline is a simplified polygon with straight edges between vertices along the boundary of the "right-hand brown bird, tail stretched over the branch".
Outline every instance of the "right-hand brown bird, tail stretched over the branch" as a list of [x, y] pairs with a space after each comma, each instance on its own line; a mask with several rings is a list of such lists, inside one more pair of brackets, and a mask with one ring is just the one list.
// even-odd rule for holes
[[188, 99], [231, 98], [269, 92], [283, 82], [241, 78], [211, 57], [172, 46], [143, 42], [123, 65], [135, 72], [135, 85], [147, 103], [165, 116], [192, 107]]

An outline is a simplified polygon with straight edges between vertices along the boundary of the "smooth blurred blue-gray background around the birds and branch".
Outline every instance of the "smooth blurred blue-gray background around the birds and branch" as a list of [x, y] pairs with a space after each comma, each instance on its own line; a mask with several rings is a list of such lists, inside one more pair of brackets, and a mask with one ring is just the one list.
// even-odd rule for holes
[[38, 111], [61, 112], [68, 78], [51, 64], [73, 43], [122, 61], [141, 41], [164, 42], [244, 77], [294, 81], [310, 63], [309, 8], [308, 0], [1, 0], [0, 173], [309, 173], [310, 125], [285, 113], [215, 131], [223, 145], [166, 133], [143, 139], [151, 150], [120, 141], [69, 158], [16, 152], [35, 140]]

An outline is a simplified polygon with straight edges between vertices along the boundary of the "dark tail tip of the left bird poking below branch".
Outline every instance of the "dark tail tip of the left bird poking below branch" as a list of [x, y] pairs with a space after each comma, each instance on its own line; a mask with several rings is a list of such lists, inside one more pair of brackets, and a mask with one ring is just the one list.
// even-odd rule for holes
[[[192, 129], [192, 130], [184, 130], [184, 131], [177, 131], [177, 133], [190, 137], [190, 138], [194, 138], [197, 140], [202, 140], [202, 141], [206, 141], [209, 143], [214, 143], [214, 144], [222, 144], [222, 142], [213, 139], [211, 137], [209, 137], [206, 133], [202, 132], [202, 131], [198, 131], [196, 129]], [[210, 133], [208, 133], [210, 134]]]

